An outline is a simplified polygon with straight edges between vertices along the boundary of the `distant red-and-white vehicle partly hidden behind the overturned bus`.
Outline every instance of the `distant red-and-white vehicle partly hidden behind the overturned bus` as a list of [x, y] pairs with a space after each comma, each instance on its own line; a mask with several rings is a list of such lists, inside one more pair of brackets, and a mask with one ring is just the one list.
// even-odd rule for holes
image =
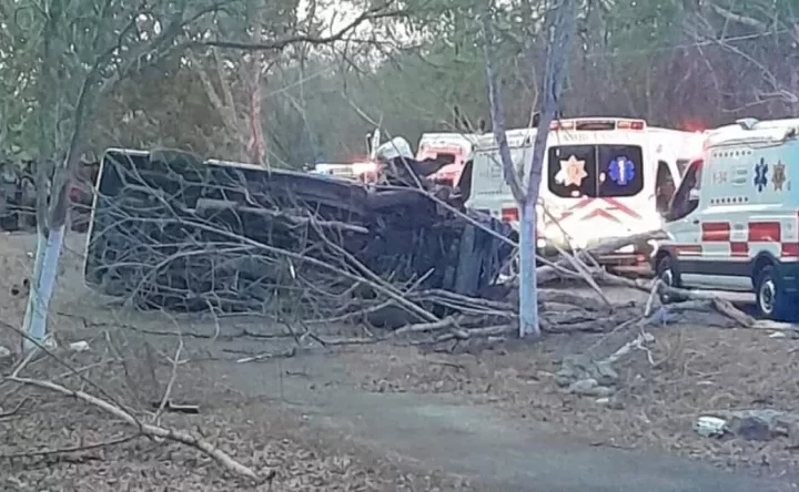
[[461, 181], [464, 166], [472, 160], [476, 142], [477, 135], [471, 133], [424, 133], [416, 160], [433, 158], [444, 164], [431, 178], [453, 186]]

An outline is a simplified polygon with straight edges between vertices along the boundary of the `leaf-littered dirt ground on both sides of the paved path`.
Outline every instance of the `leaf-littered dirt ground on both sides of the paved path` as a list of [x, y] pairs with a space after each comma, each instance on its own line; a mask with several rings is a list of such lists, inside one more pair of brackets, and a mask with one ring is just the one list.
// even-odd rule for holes
[[[32, 240], [26, 235], [0, 236], [4, 274], [0, 278], [0, 320], [12, 326], [22, 320], [21, 285], [31, 268]], [[82, 286], [82, 238], [70, 236], [50, 327], [61, 347], [85, 340], [92, 349], [60, 350], [60, 361], [37, 361], [27, 376], [83, 387], [95, 394], [102, 391], [123, 404], [150, 406], [152, 412], [173, 371], [168, 358], [174, 356], [178, 341], [170, 335], [180, 329], [183, 347], [171, 398], [198, 402], [202, 410], [196, 416], [164, 413], [161, 423], [204, 435], [262, 476], [274, 471], [271, 490], [481, 490], [456, 473], [307, 426], [307, 416], [286, 404], [291, 394], [283, 393], [283, 376], [296, 379], [302, 377], [299, 372], [281, 367], [280, 392], [244, 390], [257, 386], [257, 372], [249, 381], [233, 381], [204, 362], [235, 365], [252, 355], [284, 352], [291, 346], [284, 338], [273, 337], [274, 327], [257, 319], [210, 322], [196, 316], [142, 314], [115, 306]], [[641, 300], [638, 294], [625, 290], [611, 295]], [[224, 325], [222, 336], [210, 340], [220, 325]], [[235, 336], [244, 330], [247, 337]], [[360, 331], [351, 328], [321, 335], [361, 336]], [[771, 338], [766, 330], [668, 326], [649, 331], [656, 339], [648, 344], [650, 360], [638, 350], [617, 365], [619, 390], [603, 402], [567, 394], [558, 387], [559, 361], [573, 353], [606, 356], [635, 332], [548, 336], [536, 344], [494, 340], [474, 349], [456, 347], [452, 352], [383, 342], [347, 347], [327, 359], [343, 368], [350, 383], [366, 392], [445, 393], [497, 409], [522, 424], [544, 423], [594, 447], [665, 451], [748, 474], [796, 473], [797, 447], [787, 438], [767, 442], [710, 439], [698, 435], [692, 426], [708, 410], [797, 409], [799, 382], [793, 375], [799, 341]], [[0, 345], [16, 349], [19, 340], [0, 328]], [[80, 368], [85, 380], [67, 365]], [[181, 444], [131, 438], [75, 452], [52, 452], [125, 440], [135, 437], [135, 429], [41, 390], [0, 386], [0, 416], [4, 435], [0, 467], [8, 471], [0, 479], [2, 490], [153, 490], [155, 483], [169, 491], [250, 486]]]

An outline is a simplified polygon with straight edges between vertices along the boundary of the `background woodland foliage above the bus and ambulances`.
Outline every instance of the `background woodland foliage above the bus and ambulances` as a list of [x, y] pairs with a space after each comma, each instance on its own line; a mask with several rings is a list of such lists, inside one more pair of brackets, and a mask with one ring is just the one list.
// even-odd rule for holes
[[[98, 100], [98, 120], [87, 131], [94, 153], [110, 145], [168, 145], [240, 158], [251, 136], [255, 61], [257, 120], [271, 163], [357, 158], [364, 133], [376, 124], [413, 142], [425, 131], [467, 131], [489, 120], [472, 2], [406, 0], [391, 4], [402, 16], [371, 19], [346, 39], [257, 52], [241, 48], [331, 37], [332, 24], [343, 21], [330, 19], [330, 6], [296, 0], [241, 0], [224, 8], [161, 1], [145, 3], [146, 12], [119, 0], [50, 0], [47, 16], [37, 4], [0, 0], [0, 89], [8, 94], [0, 98], [3, 152], [38, 148], [42, 101], [53, 152], [63, 148], [80, 81], [92, 70], [90, 88], [113, 85]], [[353, 3], [355, 10], [368, 8]], [[496, 14], [496, 64], [509, 126], [526, 125], [537, 109], [546, 8], [513, 0]], [[788, 0], [584, 0], [563, 111], [641, 116], [670, 126], [796, 114], [797, 10]], [[183, 28], [170, 31], [171, 25]], [[227, 44], [214, 42], [220, 40]], [[230, 43], [240, 49], [225, 48]], [[45, 44], [58, 58], [58, 70], [42, 74], [52, 90], [39, 80]], [[212, 101], [204, 75], [223, 102], [230, 91], [227, 111], [236, 125]]]

